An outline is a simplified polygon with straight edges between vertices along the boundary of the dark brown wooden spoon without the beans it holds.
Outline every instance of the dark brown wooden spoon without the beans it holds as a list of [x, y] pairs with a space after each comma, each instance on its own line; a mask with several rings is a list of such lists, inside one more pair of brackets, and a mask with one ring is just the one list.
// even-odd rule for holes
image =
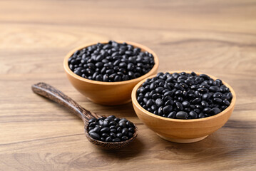
[[135, 126], [135, 133], [133, 134], [133, 137], [130, 138], [129, 140], [122, 142], [103, 142], [100, 140], [95, 140], [91, 138], [91, 136], [88, 134], [88, 120], [90, 120], [91, 118], [101, 118], [101, 115], [86, 110], [81, 105], [78, 105], [76, 101], [62, 93], [60, 90], [57, 90], [56, 88], [53, 88], [52, 86], [46, 83], [37, 83], [34, 86], [32, 86], [32, 90], [34, 91], [34, 93], [42, 95], [43, 97], [51, 99], [56, 103], [65, 106], [66, 108], [72, 110], [73, 113], [78, 115], [83, 120], [83, 123], [85, 125], [84, 129], [86, 133], [86, 138], [93, 144], [98, 145], [98, 147], [101, 147], [106, 150], [119, 149], [121, 147], [128, 145], [128, 143], [133, 141], [138, 135], [138, 128]]

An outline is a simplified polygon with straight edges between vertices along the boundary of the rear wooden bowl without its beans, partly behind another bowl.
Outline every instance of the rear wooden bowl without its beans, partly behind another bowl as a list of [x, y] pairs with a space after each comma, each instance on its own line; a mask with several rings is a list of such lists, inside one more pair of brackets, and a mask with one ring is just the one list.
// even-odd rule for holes
[[[117, 42], [123, 43], [124, 41]], [[63, 64], [66, 75], [68, 76], [68, 80], [76, 88], [76, 90], [85, 95], [89, 100], [93, 101], [94, 103], [99, 103], [102, 105], [121, 105], [123, 103], [130, 102], [130, 93], [133, 90], [133, 87], [144, 78], [148, 78], [149, 76], [157, 73], [159, 64], [158, 56], [156, 56], [156, 54], [148, 47], [145, 47], [138, 43], [126, 41], [126, 43], [133, 45], [135, 48], [141, 48], [141, 51], [148, 51], [149, 53], [151, 53], [155, 60], [155, 65], [153, 66], [153, 68], [145, 75], [129, 81], [92, 81], [86, 78], [82, 78], [81, 76], [73, 73], [73, 71], [71, 71], [71, 69], [68, 67], [68, 58], [70, 58], [75, 51], [81, 50], [82, 48], [86, 48], [88, 46], [92, 46], [96, 43], [98, 42], [88, 43], [86, 45], [80, 46], [73, 49], [66, 55]], [[108, 43], [108, 41], [102, 41], [101, 43]]]

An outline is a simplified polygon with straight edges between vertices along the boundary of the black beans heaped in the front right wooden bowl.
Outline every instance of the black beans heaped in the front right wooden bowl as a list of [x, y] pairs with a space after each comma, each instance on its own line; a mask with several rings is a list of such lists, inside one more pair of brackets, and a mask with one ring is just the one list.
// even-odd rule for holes
[[165, 118], [197, 119], [220, 113], [230, 105], [232, 93], [220, 79], [205, 74], [158, 73], [137, 90], [138, 103]]

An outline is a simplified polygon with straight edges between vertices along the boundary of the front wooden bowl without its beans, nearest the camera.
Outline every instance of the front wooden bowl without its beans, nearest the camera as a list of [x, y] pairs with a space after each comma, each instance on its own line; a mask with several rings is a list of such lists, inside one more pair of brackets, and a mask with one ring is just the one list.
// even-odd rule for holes
[[[180, 73], [182, 71], [170, 71], [169, 73]], [[186, 73], [190, 73], [190, 71], [185, 71]], [[200, 74], [200, 73], [197, 73]], [[150, 76], [148, 78], [153, 78], [154, 76]], [[210, 76], [210, 75], [208, 75]], [[203, 140], [208, 137], [211, 133], [220, 129], [230, 118], [232, 111], [234, 110], [236, 96], [235, 91], [229, 86], [227, 83], [222, 81], [225, 86], [230, 88], [232, 93], [232, 100], [230, 106], [228, 106], [225, 110], [217, 115], [210, 116], [208, 118], [200, 118], [200, 119], [191, 119], [191, 120], [181, 120], [181, 119], [171, 119], [164, 118], [153, 113], [148, 112], [140, 106], [136, 98], [136, 91], [142, 83], [148, 79], [145, 78], [143, 81], [140, 81], [134, 88], [132, 92], [132, 101], [133, 108], [135, 113], [138, 115], [138, 118], [145, 123], [151, 130], [153, 130], [160, 138], [165, 140], [169, 140], [172, 142], [180, 142], [180, 143], [189, 143], [189, 142], [197, 142]], [[214, 76], [210, 76], [216, 80]]]

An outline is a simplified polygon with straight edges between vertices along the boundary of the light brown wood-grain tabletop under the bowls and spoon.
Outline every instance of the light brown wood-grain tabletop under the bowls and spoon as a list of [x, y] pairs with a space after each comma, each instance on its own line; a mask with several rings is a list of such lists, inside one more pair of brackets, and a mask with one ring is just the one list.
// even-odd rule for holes
[[[208, 138], [168, 142], [132, 104], [91, 103], [68, 82], [63, 58], [83, 43], [142, 43], [158, 71], [199, 71], [237, 93], [230, 120]], [[0, 1], [0, 170], [255, 170], [256, 1]], [[32, 93], [43, 81], [84, 108], [125, 117], [138, 138], [119, 151], [93, 146], [83, 122]]]

